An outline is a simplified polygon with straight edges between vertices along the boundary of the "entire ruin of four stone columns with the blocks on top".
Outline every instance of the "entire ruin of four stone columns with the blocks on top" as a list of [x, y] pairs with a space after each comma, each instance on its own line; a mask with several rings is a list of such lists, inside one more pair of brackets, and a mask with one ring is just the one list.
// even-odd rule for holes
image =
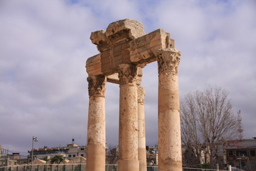
[[99, 54], [86, 61], [89, 83], [88, 171], [105, 170], [105, 85], [119, 84], [119, 171], [146, 171], [142, 68], [157, 61], [159, 73], [159, 171], [181, 171], [178, 64], [181, 53], [163, 29], [144, 32], [143, 24], [124, 19], [92, 32]]

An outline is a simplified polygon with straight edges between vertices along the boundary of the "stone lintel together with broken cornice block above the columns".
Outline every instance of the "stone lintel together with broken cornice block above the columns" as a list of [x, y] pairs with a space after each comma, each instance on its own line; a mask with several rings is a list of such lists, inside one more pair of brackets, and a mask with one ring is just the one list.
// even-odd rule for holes
[[174, 48], [169, 33], [158, 29], [145, 35], [143, 25], [131, 19], [116, 21], [107, 31], [92, 32], [91, 40], [101, 53], [87, 59], [86, 69], [90, 75], [117, 73], [122, 63], [145, 66], [156, 61], [159, 49]]

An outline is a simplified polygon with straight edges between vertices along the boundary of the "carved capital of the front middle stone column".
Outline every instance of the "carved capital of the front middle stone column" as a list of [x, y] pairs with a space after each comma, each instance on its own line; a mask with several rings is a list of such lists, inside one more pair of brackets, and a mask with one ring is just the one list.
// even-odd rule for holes
[[120, 86], [137, 83], [137, 67], [134, 64], [123, 63], [119, 65], [118, 77]]

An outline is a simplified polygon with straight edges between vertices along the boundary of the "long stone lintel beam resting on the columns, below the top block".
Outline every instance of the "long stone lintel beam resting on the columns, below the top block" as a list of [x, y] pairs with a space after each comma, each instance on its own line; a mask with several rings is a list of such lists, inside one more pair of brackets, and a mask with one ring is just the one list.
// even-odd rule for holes
[[174, 48], [174, 40], [169, 33], [158, 29], [88, 58], [86, 71], [89, 75], [109, 76], [118, 73], [118, 66], [122, 63], [134, 63], [143, 67], [156, 61], [159, 49], [163, 48]]

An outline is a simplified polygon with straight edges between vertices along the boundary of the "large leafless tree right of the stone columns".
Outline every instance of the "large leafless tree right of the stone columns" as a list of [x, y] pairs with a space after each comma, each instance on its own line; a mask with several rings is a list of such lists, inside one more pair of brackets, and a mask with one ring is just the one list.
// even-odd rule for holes
[[235, 135], [236, 128], [228, 91], [222, 88], [208, 86], [188, 93], [181, 101], [183, 147], [198, 161], [215, 165], [221, 145]]

